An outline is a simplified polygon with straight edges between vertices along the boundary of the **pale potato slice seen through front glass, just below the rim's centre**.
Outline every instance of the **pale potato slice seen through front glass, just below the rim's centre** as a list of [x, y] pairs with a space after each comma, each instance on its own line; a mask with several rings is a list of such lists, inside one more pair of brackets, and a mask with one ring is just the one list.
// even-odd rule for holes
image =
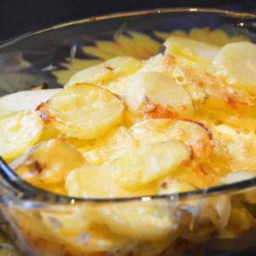
[[113, 232], [139, 240], [156, 240], [172, 233], [167, 206], [153, 202], [129, 202], [99, 207], [98, 214]]

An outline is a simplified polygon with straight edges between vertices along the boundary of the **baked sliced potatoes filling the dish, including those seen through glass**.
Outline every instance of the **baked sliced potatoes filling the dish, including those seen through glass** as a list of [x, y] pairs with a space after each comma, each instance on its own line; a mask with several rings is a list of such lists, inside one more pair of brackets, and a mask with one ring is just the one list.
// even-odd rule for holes
[[[256, 176], [256, 45], [220, 48], [178, 37], [164, 45], [164, 53], [145, 61], [122, 56], [79, 71], [61, 90], [38, 90], [31, 104], [23, 104], [31, 91], [0, 99], [0, 154], [27, 182], [71, 197], [148, 198], [143, 207], [130, 202], [71, 208], [70, 217], [41, 212], [49, 230], [50, 222], [59, 225], [51, 236], [81, 255], [137, 240], [160, 251], [170, 235], [190, 239], [184, 227], [176, 227], [170, 204], [156, 207], [151, 195]], [[13, 101], [20, 104], [13, 108]], [[247, 203], [255, 203], [252, 193], [247, 191]], [[231, 204], [230, 195], [204, 204], [195, 200], [186, 211], [196, 213], [198, 206], [203, 230], [216, 236], [255, 227], [253, 215], [240, 201]], [[196, 231], [201, 223], [191, 225]], [[77, 242], [85, 231], [94, 247]]]

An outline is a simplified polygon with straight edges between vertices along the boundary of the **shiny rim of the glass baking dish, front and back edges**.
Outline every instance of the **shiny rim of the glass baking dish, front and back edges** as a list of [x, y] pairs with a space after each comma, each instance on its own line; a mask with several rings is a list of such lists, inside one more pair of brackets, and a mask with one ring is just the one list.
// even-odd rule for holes
[[[142, 16], [142, 15], [161, 15], [169, 13], [197, 13], [197, 14], [216, 14], [216, 15], [226, 15], [230, 17], [243, 18], [243, 19], [256, 19], [256, 15], [229, 11], [224, 9], [201, 9], [201, 8], [165, 8], [165, 9], [143, 9], [137, 11], [114, 13], [110, 15], [101, 15], [90, 17], [82, 20], [74, 20], [61, 23], [55, 26], [49, 26], [48, 28], [38, 30], [35, 32], [27, 32], [15, 38], [9, 38], [0, 43], [0, 49], [9, 46], [10, 44], [15, 44], [20, 40], [30, 38], [34, 35], [54, 31], [61, 29], [66, 26], [73, 26], [78, 24], [84, 24], [89, 22], [94, 22], [98, 20], [111, 20], [118, 19], [122, 17], [131, 16]], [[155, 200], [193, 200], [195, 198], [200, 198], [201, 196], [213, 196], [213, 195], [223, 195], [231, 192], [241, 191], [243, 189], [256, 188], [256, 177], [251, 179], [243, 180], [237, 183], [230, 183], [224, 185], [218, 185], [215, 187], [209, 187], [207, 189], [197, 189], [194, 191], [180, 192], [174, 194], [166, 195], [143, 195], [135, 197], [118, 197], [118, 198], [80, 198], [67, 195], [59, 195], [53, 192], [46, 191], [44, 189], [38, 189], [32, 186], [30, 183], [22, 180], [18, 177], [9, 165], [0, 157], [0, 175], [3, 177], [5, 183], [0, 183], [6, 189], [12, 190], [14, 194], [19, 195], [19, 201], [35, 201], [37, 203], [60, 203], [60, 204], [74, 204], [75, 202], [127, 202], [127, 201], [155, 201]], [[14, 189], [14, 190], [13, 190]]]

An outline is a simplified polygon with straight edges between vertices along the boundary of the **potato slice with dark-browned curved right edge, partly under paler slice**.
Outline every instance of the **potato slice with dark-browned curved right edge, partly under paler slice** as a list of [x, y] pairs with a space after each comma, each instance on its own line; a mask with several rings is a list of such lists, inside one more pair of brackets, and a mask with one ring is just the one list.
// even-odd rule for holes
[[207, 126], [190, 120], [147, 119], [132, 125], [130, 130], [141, 144], [181, 140], [192, 147], [198, 160], [207, 160], [214, 147]]

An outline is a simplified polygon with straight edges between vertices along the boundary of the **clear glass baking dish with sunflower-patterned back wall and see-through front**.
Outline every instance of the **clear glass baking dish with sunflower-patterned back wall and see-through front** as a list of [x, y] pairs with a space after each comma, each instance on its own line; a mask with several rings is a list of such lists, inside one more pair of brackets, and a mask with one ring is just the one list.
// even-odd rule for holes
[[[134, 32], [142, 33], [141, 40], [154, 40], [145, 48], [142, 57], [147, 58], [159, 48], [160, 35], [165, 34], [161, 32], [177, 29], [189, 32], [207, 26], [256, 42], [255, 20], [255, 15], [214, 9], [155, 9], [28, 33], [0, 44], [0, 95], [43, 83], [60, 87], [65, 72], [70, 76], [81, 61], [90, 65], [111, 57], [108, 50], [99, 50], [102, 40], [120, 44], [119, 35], [125, 35], [126, 43], [124, 38], [122, 42], [127, 45]], [[138, 44], [141, 47], [143, 41]], [[256, 254], [256, 178], [173, 195], [89, 200], [36, 189], [3, 160], [0, 170], [2, 228], [24, 255]], [[221, 211], [209, 213], [212, 201], [221, 205], [227, 197], [232, 218]], [[236, 231], [224, 232], [227, 219]]]

